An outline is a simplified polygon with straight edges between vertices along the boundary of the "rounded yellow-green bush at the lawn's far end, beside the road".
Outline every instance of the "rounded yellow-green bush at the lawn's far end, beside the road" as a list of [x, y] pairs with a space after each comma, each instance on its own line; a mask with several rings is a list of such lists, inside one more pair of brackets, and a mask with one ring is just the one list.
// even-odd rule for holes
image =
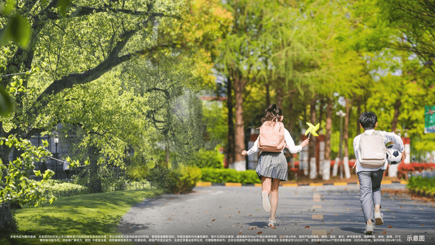
[[171, 193], [185, 193], [192, 191], [201, 178], [201, 170], [196, 167], [183, 166], [169, 171], [168, 190]]

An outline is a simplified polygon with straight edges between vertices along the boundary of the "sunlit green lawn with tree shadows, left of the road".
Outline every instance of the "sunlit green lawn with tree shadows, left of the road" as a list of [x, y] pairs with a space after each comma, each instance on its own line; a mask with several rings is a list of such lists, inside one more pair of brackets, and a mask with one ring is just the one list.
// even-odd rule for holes
[[[19, 231], [13, 235], [120, 235], [121, 217], [147, 197], [161, 195], [164, 189], [127, 190], [60, 197], [52, 205], [13, 211]], [[3, 242], [4, 244], [5, 241]], [[14, 239], [13, 244], [71, 244], [39, 242], [39, 239]], [[0, 242], [2, 244], [2, 242]], [[92, 244], [80, 242], [80, 244]], [[99, 244], [102, 244], [99, 242]], [[111, 244], [116, 244], [111, 242]], [[128, 243], [122, 243], [128, 244]]]

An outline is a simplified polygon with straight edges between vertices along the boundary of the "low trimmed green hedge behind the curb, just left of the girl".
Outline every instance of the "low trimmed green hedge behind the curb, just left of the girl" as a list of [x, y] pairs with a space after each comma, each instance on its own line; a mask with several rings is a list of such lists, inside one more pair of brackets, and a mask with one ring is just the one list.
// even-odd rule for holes
[[213, 183], [242, 183], [242, 184], [254, 184], [261, 183], [258, 179], [257, 173], [254, 170], [237, 171], [234, 169], [201, 169], [201, 181], [213, 182]]

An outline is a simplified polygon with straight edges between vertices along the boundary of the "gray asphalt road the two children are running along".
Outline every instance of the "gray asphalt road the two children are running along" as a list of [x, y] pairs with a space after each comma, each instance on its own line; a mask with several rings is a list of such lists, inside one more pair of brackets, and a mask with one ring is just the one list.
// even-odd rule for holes
[[408, 195], [383, 194], [384, 224], [367, 236], [357, 184], [281, 186], [274, 229], [267, 227], [260, 192], [254, 186], [212, 186], [148, 198], [125, 214], [118, 229], [123, 239], [153, 245], [435, 244], [435, 206]]

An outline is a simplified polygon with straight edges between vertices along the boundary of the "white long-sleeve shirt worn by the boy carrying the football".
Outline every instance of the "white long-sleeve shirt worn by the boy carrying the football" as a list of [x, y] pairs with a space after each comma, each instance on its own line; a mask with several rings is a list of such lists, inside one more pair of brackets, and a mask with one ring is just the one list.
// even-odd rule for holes
[[[374, 131], [375, 131], [374, 129], [368, 129], [365, 132], [367, 134], [372, 134]], [[380, 131], [380, 134], [383, 137], [384, 144], [386, 144], [388, 142], [393, 142], [395, 145], [397, 145], [399, 147], [401, 152], [403, 152], [405, 150], [402, 138], [400, 138], [399, 135], [397, 135], [395, 133], [392, 133], [392, 132], [385, 132], [385, 131]], [[388, 165], [388, 161], [387, 160], [385, 160], [385, 164], [381, 168], [378, 168], [378, 169], [373, 169], [373, 168], [369, 169], [369, 168], [363, 168], [363, 167], [361, 167], [360, 160], [358, 159], [358, 152], [360, 150], [360, 139], [361, 139], [361, 135], [357, 135], [354, 138], [354, 152], [355, 152], [355, 157], [357, 159], [357, 162], [355, 162], [355, 164], [356, 164], [356, 167], [357, 167], [357, 173], [360, 172], [360, 171], [378, 171], [380, 169], [386, 170], [386, 167]]]

